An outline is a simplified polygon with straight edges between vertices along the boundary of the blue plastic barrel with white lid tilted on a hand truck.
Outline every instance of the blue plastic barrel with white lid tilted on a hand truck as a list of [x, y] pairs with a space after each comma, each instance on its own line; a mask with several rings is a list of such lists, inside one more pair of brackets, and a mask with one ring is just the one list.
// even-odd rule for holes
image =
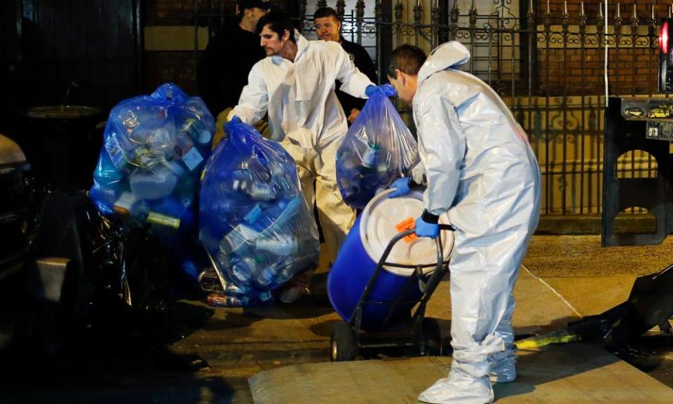
[[[388, 198], [391, 190], [383, 191], [369, 202], [362, 214], [355, 220], [353, 228], [339, 249], [337, 260], [327, 276], [327, 295], [332, 307], [345, 321], [351, 321], [362, 292], [374, 274], [383, 250], [399, 231], [397, 224], [419, 217], [423, 212], [422, 194], [414, 192], [409, 196]], [[440, 222], [448, 223], [442, 216]], [[453, 245], [453, 234], [443, 234], [444, 260], [448, 260]], [[387, 262], [397, 264], [433, 264], [437, 252], [435, 241], [418, 238], [414, 241], [400, 240], [390, 252]], [[433, 268], [428, 268], [432, 271]], [[413, 269], [383, 267], [376, 283], [367, 297], [367, 302], [394, 302], [404, 291]], [[418, 282], [413, 281], [402, 302], [421, 297]], [[414, 303], [400, 304], [393, 311], [388, 326], [408, 319]], [[388, 315], [390, 305], [367, 303], [362, 308], [362, 330], [381, 330]]]

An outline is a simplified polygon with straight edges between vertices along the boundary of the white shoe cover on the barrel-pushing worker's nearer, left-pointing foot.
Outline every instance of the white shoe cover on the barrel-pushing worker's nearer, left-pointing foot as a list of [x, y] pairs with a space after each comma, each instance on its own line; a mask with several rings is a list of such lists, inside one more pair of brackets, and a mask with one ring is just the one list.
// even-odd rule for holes
[[493, 388], [488, 377], [473, 379], [451, 372], [423, 391], [419, 401], [430, 404], [487, 404], [493, 401]]

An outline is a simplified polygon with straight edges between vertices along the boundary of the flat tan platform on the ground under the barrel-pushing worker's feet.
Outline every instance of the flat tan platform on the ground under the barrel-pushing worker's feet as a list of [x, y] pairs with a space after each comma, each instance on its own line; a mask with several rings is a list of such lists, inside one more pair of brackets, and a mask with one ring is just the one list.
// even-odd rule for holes
[[[413, 404], [446, 377], [450, 363], [447, 357], [307, 363], [254, 375], [250, 389], [255, 404]], [[497, 403], [673, 403], [668, 386], [589, 344], [522, 352], [517, 366], [515, 383], [494, 385]]]

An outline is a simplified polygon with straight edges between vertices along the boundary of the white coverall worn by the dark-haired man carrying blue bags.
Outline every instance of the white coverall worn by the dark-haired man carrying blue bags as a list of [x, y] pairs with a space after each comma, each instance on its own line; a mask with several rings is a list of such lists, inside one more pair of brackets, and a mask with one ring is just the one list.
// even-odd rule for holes
[[254, 124], [268, 111], [271, 139], [281, 142], [297, 163], [308, 206], [317, 200], [327, 257], [333, 262], [355, 220], [355, 211], [344, 203], [337, 187], [337, 149], [348, 125], [334, 81], [341, 81], [342, 91], [360, 98], [366, 98], [365, 89], [374, 83], [338, 42], [307, 41], [296, 30], [294, 37], [294, 62], [280, 55], [257, 62], [228, 120], [238, 116]]

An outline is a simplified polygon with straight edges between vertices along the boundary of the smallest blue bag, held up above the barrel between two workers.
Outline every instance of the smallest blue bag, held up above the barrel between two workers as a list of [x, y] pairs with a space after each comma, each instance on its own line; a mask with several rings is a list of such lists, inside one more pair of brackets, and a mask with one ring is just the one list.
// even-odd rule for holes
[[365, 208], [370, 199], [419, 161], [418, 144], [383, 93], [374, 93], [337, 151], [337, 184], [344, 201]]

